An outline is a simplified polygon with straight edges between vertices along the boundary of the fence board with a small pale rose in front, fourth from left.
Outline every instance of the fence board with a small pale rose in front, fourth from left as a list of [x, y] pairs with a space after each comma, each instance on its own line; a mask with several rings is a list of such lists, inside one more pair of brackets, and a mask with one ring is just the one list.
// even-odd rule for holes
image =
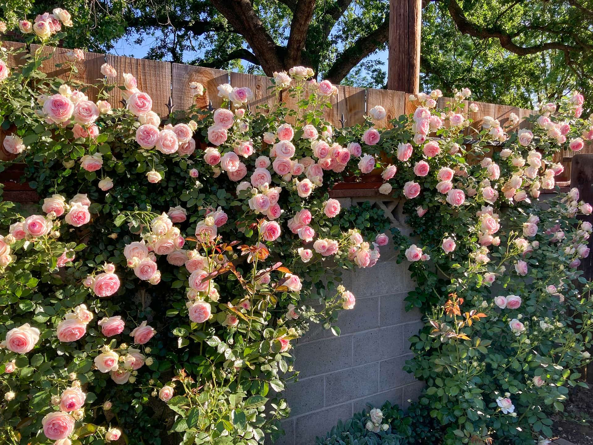
[[[203, 96], [193, 96], [190, 82], [204, 85]], [[228, 84], [228, 72], [222, 69], [202, 68], [202, 66], [171, 63], [171, 97], [176, 110], [186, 110], [192, 104], [200, 108], [208, 106], [212, 101], [214, 108], [219, 108], [222, 98], [218, 97], [218, 85]]]

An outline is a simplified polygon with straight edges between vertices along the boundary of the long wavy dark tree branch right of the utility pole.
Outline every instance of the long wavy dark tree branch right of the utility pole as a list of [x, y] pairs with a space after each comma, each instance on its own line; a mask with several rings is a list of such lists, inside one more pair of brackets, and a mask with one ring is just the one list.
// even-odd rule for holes
[[451, 18], [455, 21], [455, 24], [457, 24], [457, 28], [461, 31], [461, 33], [468, 34], [473, 37], [479, 37], [480, 39], [499, 39], [500, 46], [519, 56], [535, 54], [549, 49], [558, 49], [565, 52], [581, 50], [581, 48], [579, 47], [565, 45], [564, 43], [560, 42], [547, 42], [541, 43], [540, 45], [527, 47], [519, 46], [513, 43], [513, 36], [511, 36], [511, 34], [501, 30], [500, 28], [482, 27], [475, 23], [472, 23], [470, 20], [468, 20], [466, 14], [463, 12], [463, 9], [461, 9], [460, 5], [457, 3], [456, 0], [448, 1], [448, 9], [449, 14], [451, 14]]

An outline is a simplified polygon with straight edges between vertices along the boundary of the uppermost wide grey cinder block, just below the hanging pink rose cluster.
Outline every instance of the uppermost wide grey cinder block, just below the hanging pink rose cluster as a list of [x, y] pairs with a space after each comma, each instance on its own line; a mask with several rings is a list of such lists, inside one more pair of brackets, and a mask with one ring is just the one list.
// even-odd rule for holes
[[368, 297], [403, 292], [409, 290], [409, 285], [406, 283], [410, 278], [406, 278], [406, 275], [409, 276], [409, 272], [406, 271], [403, 263], [378, 262], [372, 268], [355, 271], [352, 293], [356, 297]]

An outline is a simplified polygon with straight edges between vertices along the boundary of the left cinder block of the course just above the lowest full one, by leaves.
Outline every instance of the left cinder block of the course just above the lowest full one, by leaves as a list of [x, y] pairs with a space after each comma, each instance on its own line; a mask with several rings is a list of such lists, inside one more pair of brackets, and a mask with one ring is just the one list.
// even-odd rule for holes
[[317, 376], [352, 366], [352, 336], [331, 337], [297, 344], [295, 367], [299, 377]]

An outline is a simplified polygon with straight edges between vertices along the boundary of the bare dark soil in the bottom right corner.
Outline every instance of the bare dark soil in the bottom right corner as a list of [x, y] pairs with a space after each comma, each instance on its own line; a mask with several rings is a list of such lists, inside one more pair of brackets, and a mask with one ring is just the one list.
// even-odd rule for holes
[[554, 436], [575, 445], [593, 444], [593, 384], [575, 387], [565, 403], [565, 412], [554, 417]]

